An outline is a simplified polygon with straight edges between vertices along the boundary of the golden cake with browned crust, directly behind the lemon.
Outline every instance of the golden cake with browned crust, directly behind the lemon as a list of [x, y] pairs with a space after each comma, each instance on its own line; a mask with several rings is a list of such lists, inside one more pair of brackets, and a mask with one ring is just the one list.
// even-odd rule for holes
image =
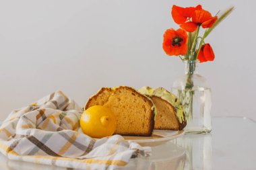
[[115, 134], [151, 136], [154, 130], [155, 107], [152, 100], [131, 87], [103, 87], [90, 97], [85, 110], [93, 105], [104, 105], [117, 117]]

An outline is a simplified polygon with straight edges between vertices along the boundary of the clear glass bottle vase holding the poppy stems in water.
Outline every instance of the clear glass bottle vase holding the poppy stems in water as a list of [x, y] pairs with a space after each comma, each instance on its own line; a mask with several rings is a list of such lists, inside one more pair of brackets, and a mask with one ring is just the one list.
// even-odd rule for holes
[[206, 79], [197, 73], [195, 60], [185, 62], [185, 75], [172, 84], [172, 93], [183, 104], [187, 119], [186, 133], [207, 133], [212, 131], [212, 92]]

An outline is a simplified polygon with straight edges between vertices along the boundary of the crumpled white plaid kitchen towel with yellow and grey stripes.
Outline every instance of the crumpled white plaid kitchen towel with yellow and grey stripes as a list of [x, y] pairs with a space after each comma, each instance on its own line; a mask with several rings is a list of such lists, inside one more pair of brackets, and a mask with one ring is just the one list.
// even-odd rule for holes
[[13, 160], [77, 169], [116, 169], [150, 147], [122, 136], [94, 140], [79, 128], [82, 109], [61, 91], [14, 110], [0, 126], [0, 151]]

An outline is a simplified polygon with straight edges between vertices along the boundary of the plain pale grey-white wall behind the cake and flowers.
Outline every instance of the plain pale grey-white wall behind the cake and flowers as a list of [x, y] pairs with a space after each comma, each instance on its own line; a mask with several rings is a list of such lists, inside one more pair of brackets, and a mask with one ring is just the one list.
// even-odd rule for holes
[[173, 4], [236, 10], [206, 40], [214, 62], [199, 65], [213, 91], [214, 116], [256, 120], [253, 0], [0, 1], [0, 120], [57, 89], [84, 105], [102, 86], [170, 89], [183, 62], [166, 56], [162, 35]]

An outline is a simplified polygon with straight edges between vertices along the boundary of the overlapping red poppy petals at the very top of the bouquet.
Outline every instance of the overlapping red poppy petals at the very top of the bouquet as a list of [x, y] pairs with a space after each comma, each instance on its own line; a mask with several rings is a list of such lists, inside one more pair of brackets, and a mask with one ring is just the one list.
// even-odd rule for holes
[[172, 18], [174, 22], [180, 24], [181, 28], [187, 32], [194, 32], [198, 26], [203, 28], [211, 28], [214, 22], [218, 19], [217, 16], [212, 17], [212, 14], [201, 8], [201, 5], [196, 7], [178, 7], [172, 6]]

